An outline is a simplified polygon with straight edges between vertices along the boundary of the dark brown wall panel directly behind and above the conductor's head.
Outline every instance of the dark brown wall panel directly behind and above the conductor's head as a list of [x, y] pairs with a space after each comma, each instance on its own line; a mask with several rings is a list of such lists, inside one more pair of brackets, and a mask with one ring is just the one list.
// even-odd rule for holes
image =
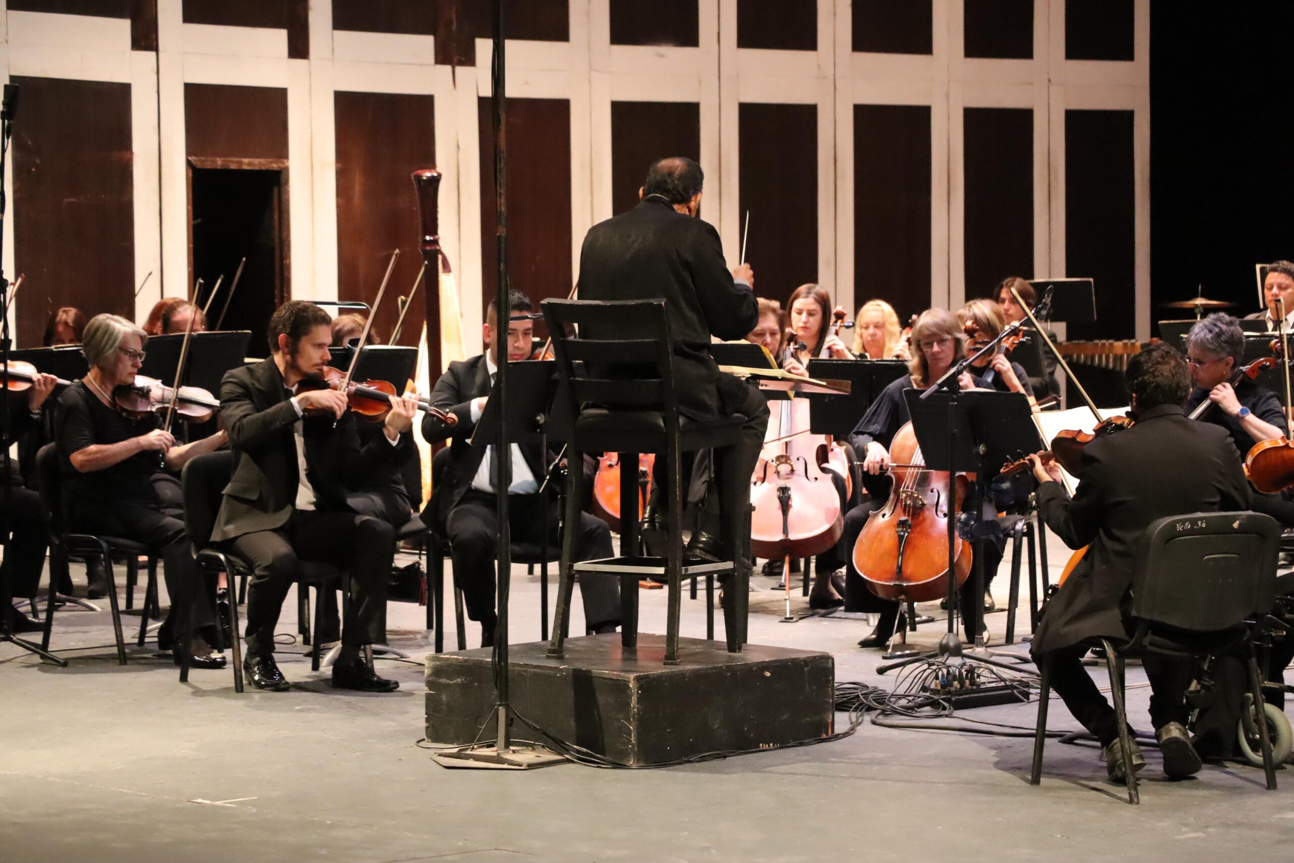
[[638, 189], [656, 159], [701, 159], [701, 106], [696, 102], [611, 104], [611, 206], [622, 213], [638, 203]]

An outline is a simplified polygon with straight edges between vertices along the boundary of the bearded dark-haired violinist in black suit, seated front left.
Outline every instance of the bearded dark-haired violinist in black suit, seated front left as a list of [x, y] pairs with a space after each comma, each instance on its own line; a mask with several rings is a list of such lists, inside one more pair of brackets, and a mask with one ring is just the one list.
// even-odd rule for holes
[[252, 565], [243, 670], [256, 688], [287, 688], [274, 664], [274, 625], [298, 560], [343, 562], [351, 603], [333, 686], [389, 692], [399, 683], [378, 677], [360, 648], [384, 640], [395, 529], [355, 512], [345, 498], [413, 445], [406, 432], [417, 401], [392, 396], [383, 432], [361, 448], [344, 393], [304, 387], [296, 392], [303, 380], [318, 378], [330, 358], [329, 314], [291, 300], [270, 317], [268, 335], [268, 360], [234, 369], [220, 382], [221, 422], [236, 462], [211, 538], [228, 542]]

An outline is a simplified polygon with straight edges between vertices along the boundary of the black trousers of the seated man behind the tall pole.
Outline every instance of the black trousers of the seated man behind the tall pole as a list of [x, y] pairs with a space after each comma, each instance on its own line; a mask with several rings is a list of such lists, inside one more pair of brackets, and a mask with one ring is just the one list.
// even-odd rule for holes
[[[543, 507], [549, 507], [547, 541], [559, 545], [558, 521], [560, 512], [554, 502], [541, 494], [511, 494], [507, 498], [507, 524], [512, 542], [543, 541]], [[602, 519], [580, 514], [576, 541], [577, 560], [611, 558], [611, 528]], [[481, 626], [494, 626], [494, 574], [497, 572], [498, 514], [494, 494], [468, 489], [445, 519], [445, 534], [450, 543], [454, 578], [463, 590], [467, 616]], [[594, 629], [604, 624], [620, 622], [620, 580], [587, 578], [580, 582], [584, 600], [585, 626]]]

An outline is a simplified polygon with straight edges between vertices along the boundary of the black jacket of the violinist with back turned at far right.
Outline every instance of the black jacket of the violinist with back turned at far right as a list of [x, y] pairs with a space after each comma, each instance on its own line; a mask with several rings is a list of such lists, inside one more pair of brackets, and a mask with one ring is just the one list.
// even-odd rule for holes
[[1227, 431], [1188, 419], [1178, 405], [1143, 411], [1136, 424], [1083, 452], [1083, 479], [1066, 496], [1038, 488], [1038, 510], [1070, 549], [1090, 546], [1047, 603], [1034, 652], [1084, 638], [1127, 637], [1124, 615], [1141, 534], [1156, 519], [1249, 508], [1249, 485]]

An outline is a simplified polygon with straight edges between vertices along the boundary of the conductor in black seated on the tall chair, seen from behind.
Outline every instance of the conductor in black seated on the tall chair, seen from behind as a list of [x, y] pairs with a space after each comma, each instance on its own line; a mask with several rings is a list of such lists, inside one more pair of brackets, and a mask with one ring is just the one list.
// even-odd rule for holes
[[[665, 300], [678, 411], [694, 421], [745, 417], [740, 441], [716, 452], [719, 508], [732, 512], [749, 507], [751, 476], [763, 445], [769, 406], [756, 389], [719, 373], [709, 353], [712, 335], [745, 338], [760, 322], [760, 309], [751, 290], [751, 267], [741, 264], [730, 272], [718, 233], [700, 219], [704, 180], [701, 167], [691, 159], [653, 163], [638, 191], [641, 203], [594, 225], [584, 238], [580, 299]], [[617, 338], [615, 333], [604, 335]], [[656, 464], [656, 481], [643, 514], [644, 536], [659, 533], [664, 523], [664, 459]], [[721, 537], [716, 552], [731, 554], [727, 559], [748, 567], [749, 562], [739, 560], [744, 558], [744, 543], [735, 540]]]

